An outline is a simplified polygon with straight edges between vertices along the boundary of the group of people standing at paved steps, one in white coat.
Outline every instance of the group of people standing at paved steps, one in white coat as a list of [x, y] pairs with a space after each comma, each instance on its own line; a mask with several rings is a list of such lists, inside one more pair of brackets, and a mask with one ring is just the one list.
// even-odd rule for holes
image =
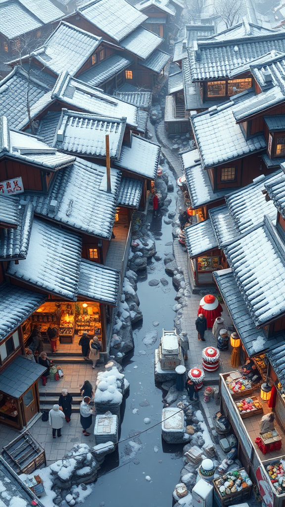
[[[89, 404], [94, 396], [93, 386], [89, 380], [85, 380], [80, 389], [80, 394], [83, 396], [83, 400], [80, 404], [80, 423], [83, 428], [82, 432], [84, 436], [88, 437], [90, 433], [87, 429], [90, 428], [92, 424], [92, 415], [95, 414], [95, 411], [89, 407]], [[72, 395], [67, 391], [67, 389], [62, 389], [58, 399], [58, 404], [55, 404], [49, 412], [49, 424], [52, 427], [52, 436], [54, 439], [56, 438], [56, 434], [58, 437], [61, 437], [61, 428], [63, 426], [64, 419], [67, 423], [70, 422], [72, 415], [72, 402]]]

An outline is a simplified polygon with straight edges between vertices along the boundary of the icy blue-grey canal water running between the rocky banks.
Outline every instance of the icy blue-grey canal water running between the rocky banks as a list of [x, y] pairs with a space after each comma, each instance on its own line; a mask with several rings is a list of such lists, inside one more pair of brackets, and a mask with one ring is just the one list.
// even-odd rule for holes
[[[172, 198], [169, 211], [174, 211], [175, 194], [169, 197]], [[134, 352], [124, 364], [130, 393], [125, 400], [120, 441], [159, 424], [138, 437], [119, 443], [117, 452], [106, 457], [100, 468], [100, 474], [104, 475], [98, 478], [84, 507], [171, 507], [172, 491], [179, 482], [183, 446], [168, 445], [161, 439], [163, 394], [154, 383], [154, 350], [158, 347], [162, 328], [172, 329], [175, 316], [172, 306], [176, 292], [163, 264], [164, 253], [172, 252], [172, 227], [165, 225], [158, 216], [151, 223], [151, 231], [162, 261], [153, 261], [148, 267], [148, 279], [137, 284], [144, 320], [142, 327], [134, 331]], [[166, 245], [168, 242], [171, 244]], [[167, 286], [149, 286], [149, 280], [162, 277], [168, 280]], [[153, 321], [158, 321], [159, 325], [154, 327]], [[142, 340], [153, 331], [157, 331], [157, 340], [146, 346]], [[150, 424], [144, 422], [145, 418], [151, 420]]]

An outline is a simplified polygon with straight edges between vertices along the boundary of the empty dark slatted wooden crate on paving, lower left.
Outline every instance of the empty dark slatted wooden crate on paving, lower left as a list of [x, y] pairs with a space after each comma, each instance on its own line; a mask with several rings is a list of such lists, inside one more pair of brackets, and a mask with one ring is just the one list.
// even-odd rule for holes
[[2, 456], [17, 474], [31, 474], [47, 464], [45, 450], [28, 431], [3, 448]]

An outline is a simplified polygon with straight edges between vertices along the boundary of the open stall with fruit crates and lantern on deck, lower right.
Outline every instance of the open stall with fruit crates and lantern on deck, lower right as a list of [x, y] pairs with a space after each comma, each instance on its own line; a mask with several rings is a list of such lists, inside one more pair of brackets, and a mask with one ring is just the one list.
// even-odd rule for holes
[[260, 382], [255, 383], [240, 372], [220, 374], [221, 413], [232, 426], [238, 440], [237, 457], [257, 484], [262, 500], [268, 507], [283, 507], [285, 433], [271, 407], [271, 390], [265, 387], [268, 372], [264, 359], [262, 354], [254, 361], [255, 366], [260, 364]]

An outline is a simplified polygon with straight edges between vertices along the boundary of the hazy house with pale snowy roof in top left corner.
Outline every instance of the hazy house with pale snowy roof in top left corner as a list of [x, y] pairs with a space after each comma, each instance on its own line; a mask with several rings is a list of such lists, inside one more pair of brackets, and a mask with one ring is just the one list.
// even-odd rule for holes
[[51, 0], [27, 2], [26, 0], [5, 0], [0, 5], [0, 79], [9, 73], [5, 62], [17, 58], [24, 51], [33, 51], [39, 41], [52, 32], [64, 16], [60, 4]]

